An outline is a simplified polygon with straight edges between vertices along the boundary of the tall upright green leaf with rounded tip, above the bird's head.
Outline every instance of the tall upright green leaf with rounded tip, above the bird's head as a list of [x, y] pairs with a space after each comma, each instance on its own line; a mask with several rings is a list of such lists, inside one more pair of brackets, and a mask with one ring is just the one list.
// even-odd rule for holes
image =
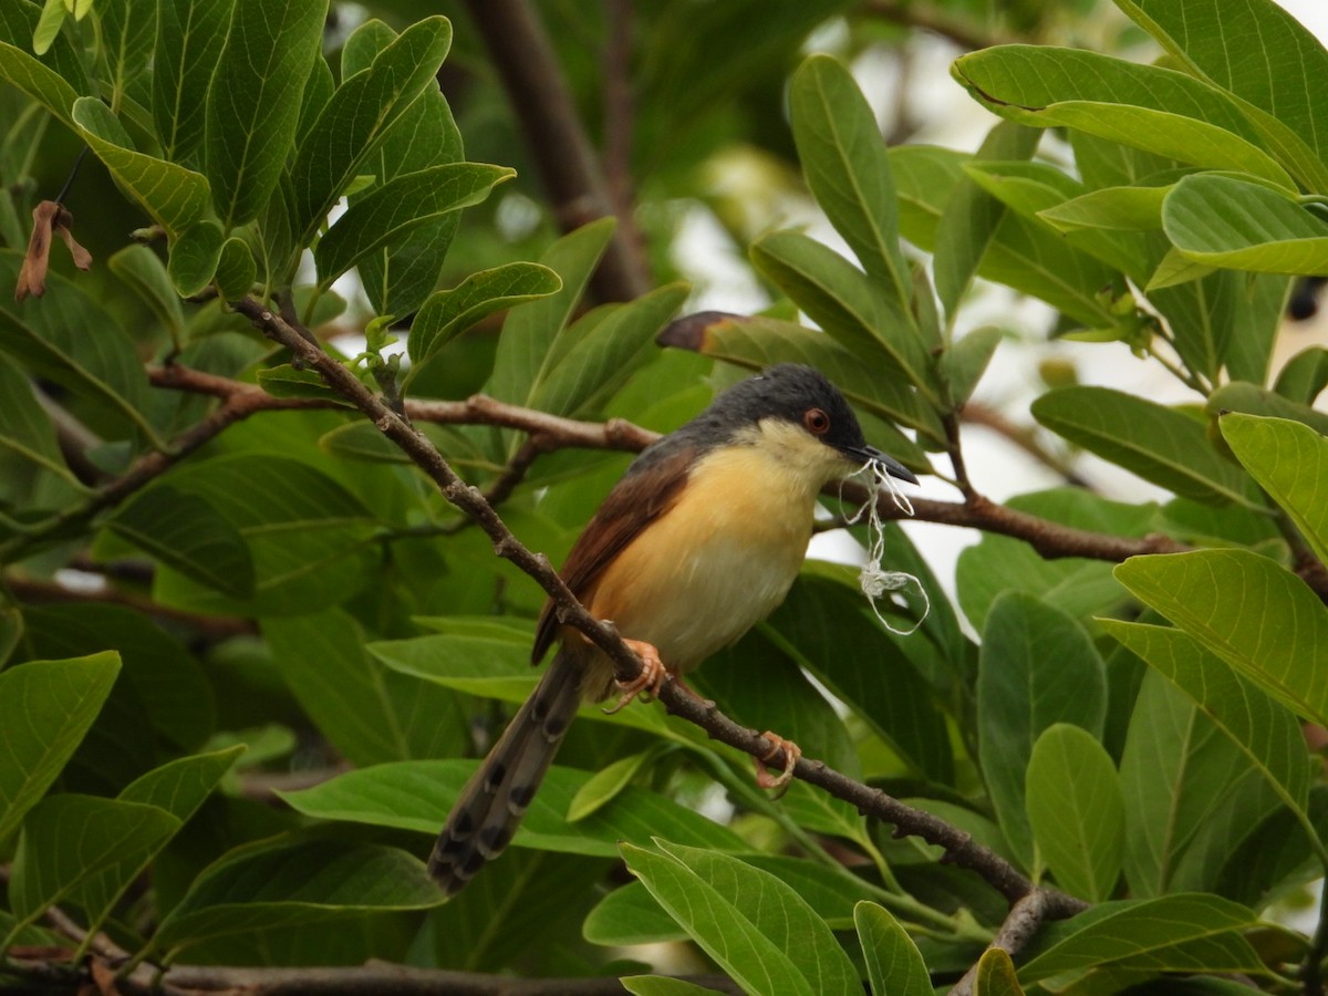
[[907, 315], [912, 275], [899, 248], [890, 158], [862, 90], [841, 62], [811, 56], [793, 74], [789, 113], [811, 195], [867, 276], [890, 287]]

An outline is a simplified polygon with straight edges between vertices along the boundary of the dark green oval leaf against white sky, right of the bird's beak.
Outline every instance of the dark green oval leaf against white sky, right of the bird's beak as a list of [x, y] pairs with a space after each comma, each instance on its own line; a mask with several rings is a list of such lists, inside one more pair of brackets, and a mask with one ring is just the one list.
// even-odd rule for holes
[[1252, 502], [1247, 478], [1212, 449], [1203, 424], [1154, 401], [1110, 388], [1070, 386], [1042, 394], [1032, 412], [1070, 442], [1183, 498]]

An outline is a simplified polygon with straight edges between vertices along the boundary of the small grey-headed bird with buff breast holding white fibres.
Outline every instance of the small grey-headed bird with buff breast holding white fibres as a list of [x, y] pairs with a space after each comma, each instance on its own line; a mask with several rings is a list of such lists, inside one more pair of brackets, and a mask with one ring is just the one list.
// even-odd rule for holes
[[[429, 858], [434, 882], [454, 895], [511, 842], [583, 701], [603, 701], [615, 687], [619, 708], [657, 693], [665, 675], [681, 680], [774, 611], [802, 566], [821, 489], [872, 463], [918, 483], [867, 445], [838, 388], [797, 364], [734, 384], [647, 446], [560, 571], [641, 657], [641, 676], [616, 683], [610, 657], [546, 602], [531, 659], [538, 664], [555, 641], [558, 653], [461, 790]], [[786, 749], [786, 781], [801, 752], [766, 736], [777, 744], [769, 757]]]

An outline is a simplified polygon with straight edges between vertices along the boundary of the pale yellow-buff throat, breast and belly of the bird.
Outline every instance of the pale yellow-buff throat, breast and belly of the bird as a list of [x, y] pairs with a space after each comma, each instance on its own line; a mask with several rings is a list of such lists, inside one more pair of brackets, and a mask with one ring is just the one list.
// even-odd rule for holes
[[673, 507], [600, 575], [591, 614], [653, 644], [679, 672], [769, 615], [802, 566], [817, 493], [846, 469], [788, 429], [764, 424], [697, 461]]

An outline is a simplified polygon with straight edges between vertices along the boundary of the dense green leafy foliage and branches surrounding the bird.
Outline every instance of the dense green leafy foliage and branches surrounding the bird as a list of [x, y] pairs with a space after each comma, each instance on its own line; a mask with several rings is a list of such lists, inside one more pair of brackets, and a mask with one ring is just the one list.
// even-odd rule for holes
[[[1271, 0], [1117, 0], [1153, 62], [1016, 9], [952, 65], [999, 118], [968, 154], [883, 141], [846, 60], [907, 46], [891, 17], [968, 42], [983, 4], [371, 7], [0, 7], [0, 976], [1320, 992], [1323, 918], [1274, 918], [1328, 867], [1328, 352], [1271, 356], [1328, 272], [1324, 46]], [[839, 248], [744, 222], [706, 179], [734, 150], [797, 163]], [[684, 197], [769, 308], [679, 317]], [[1053, 469], [1166, 498], [969, 479], [1008, 337], [960, 331], [979, 280], [1190, 392], [1031, 409]], [[915, 510], [981, 530], [954, 603], [892, 522], [926, 619], [809, 562], [699, 675], [720, 716], [583, 710], [444, 903], [420, 855], [534, 685], [547, 594], [594, 631], [531, 551], [778, 361], [952, 485]], [[825, 766], [768, 798], [746, 726]], [[653, 942], [704, 975], [616, 960]]]

